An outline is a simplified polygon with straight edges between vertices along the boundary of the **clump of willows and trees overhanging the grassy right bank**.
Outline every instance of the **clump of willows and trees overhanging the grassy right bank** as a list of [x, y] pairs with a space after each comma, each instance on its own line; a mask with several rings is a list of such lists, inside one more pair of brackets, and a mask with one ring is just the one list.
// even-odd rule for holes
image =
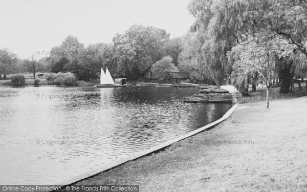
[[217, 85], [229, 80], [244, 95], [250, 85], [269, 89], [276, 79], [288, 93], [293, 78], [306, 76], [305, 1], [193, 0], [188, 9], [196, 19], [185, 36], [182, 68]]

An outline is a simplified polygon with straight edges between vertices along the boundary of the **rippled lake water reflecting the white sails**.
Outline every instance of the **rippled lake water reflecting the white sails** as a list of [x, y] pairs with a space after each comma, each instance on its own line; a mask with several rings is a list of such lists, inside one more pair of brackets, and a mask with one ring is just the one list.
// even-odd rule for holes
[[55, 184], [182, 136], [232, 104], [191, 88], [0, 88], [0, 184]]

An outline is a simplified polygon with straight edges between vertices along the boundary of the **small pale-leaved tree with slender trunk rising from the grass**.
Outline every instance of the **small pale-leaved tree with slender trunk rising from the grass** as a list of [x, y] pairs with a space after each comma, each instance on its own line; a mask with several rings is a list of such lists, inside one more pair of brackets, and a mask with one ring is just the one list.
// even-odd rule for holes
[[237, 45], [228, 52], [232, 62], [232, 79], [236, 85], [248, 81], [249, 75], [258, 74], [259, 81], [264, 82], [267, 92], [267, 108], [269, 108], [271, 81], [278, 74], [276, 61], [278, 58], [292, 54], [293, 47], [284, 40], [272, 40], [267, 44], [256, 44], [252, 41], [246, 45]]

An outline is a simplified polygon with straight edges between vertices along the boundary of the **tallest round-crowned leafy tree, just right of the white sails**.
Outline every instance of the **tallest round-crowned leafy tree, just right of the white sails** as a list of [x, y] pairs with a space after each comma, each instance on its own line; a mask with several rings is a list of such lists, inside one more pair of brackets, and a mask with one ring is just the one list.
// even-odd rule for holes
[[163, 29], [133, 25], [124, 34], [116, 34], [113, 43], [120, 74], [139, 78], [163, 56], [169, 34]]

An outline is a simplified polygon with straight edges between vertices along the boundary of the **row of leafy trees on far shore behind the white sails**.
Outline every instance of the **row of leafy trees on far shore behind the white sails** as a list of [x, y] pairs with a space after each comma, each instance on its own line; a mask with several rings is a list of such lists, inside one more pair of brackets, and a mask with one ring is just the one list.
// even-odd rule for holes
[[166, 30], [133, 25], [124, 34], [116, 34], [112, 44], [84, 47], [77, 37], [69, 35], [50, 52], [37, 52], [37, 55], [48, 55], [40, 60], [36, 60], [35, 55], [20, 60], [3, 49], [0, 51], [0, 74], [72, 72], [80, 80], [90, 80], [99, 76], [101, 67], [107, 67], [114, 77], [135, 80], [166, 56], [172, 57], [173, 65], [177, 66], [181, 50], [181, 38], [170, 39]]

